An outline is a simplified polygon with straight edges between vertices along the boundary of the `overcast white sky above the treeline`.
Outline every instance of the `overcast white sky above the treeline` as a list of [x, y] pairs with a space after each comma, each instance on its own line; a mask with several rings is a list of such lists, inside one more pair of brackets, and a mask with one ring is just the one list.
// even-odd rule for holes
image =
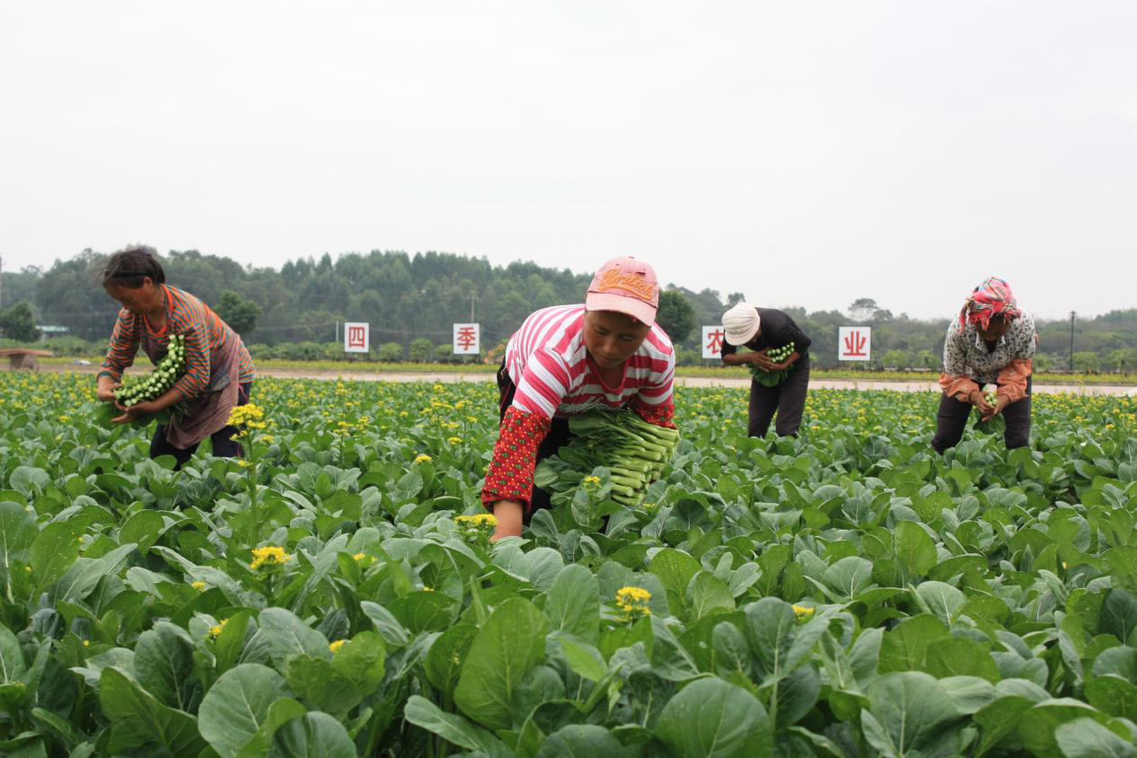
[[1137, 3], [5, 2], [0, 255], [442, 250], [1137, 307]]

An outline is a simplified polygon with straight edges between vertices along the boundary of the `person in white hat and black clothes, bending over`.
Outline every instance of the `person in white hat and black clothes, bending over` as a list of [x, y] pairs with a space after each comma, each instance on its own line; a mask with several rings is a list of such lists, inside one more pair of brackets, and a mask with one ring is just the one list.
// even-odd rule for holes
[[[769, 380], [750, 381], [750, 413], [747, 434], [765, 436], [770, 422], [778, 413], [774, 431], [779, 436], [797, 436], [810, 388], [810, 338], [794, 319], [774, 308], [756, 308], [740, 302], [722, 316], [725, 340], [722, 363], [728, 366], [753, 366]], [[788, 350], [781, 360], [767, 353]], [[750, 352], [738, 352], [739, 348]]]

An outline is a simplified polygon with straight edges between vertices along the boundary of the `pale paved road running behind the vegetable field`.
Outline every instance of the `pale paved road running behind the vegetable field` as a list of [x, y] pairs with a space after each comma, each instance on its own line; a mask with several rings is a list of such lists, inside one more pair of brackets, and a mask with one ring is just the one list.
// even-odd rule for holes
[[[43, 370], [50, 372], [81, 372], [84, 374], [96, 374], [97, 366], [44, 366]], [[337, 372], [337, 370], [313, 370], [293, 368], [258, 368], [262, 376], [280, 376], [290, 378], [313, 378], [313, 380], [338, 380], [356, 382], [491, 382], [493, 374], [487, 372], [475, 372], [459, 374], [450, 372], [438, 373], [392, 373], [392, 372]], [[714, 378], [709, 376], [679, 376], [675, 378], [679, 386], [725, 386], [746, 388], [750, 385], [745, 378]], [[936, 382], [853, 382], [849, 380], [814, 380], [810, 386], [832, 390], [895, 390], [899, 392], [938, 392], [939, 385]], [[1085, 394], [1110, 394], [1118, 397], [1137, 397], [1137, 386], [1123, 386], [1115, 384], [1036, 384], [1035, 392], [1053, 394], [1059, 392], [1074, 392]]]

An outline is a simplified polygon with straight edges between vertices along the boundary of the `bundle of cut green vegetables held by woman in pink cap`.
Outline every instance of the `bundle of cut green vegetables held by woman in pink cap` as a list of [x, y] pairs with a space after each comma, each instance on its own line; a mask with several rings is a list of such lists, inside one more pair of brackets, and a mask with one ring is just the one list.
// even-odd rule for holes
[[679, 432], [648, 424], [633, 410], [595, 410], [568, 419], [572, 440], [537, 468], [537, 485], [553, 492], [575, 490], [597, 467], [612, 477], [611, 499], [638, 506], [647, 485], [671, 461]]

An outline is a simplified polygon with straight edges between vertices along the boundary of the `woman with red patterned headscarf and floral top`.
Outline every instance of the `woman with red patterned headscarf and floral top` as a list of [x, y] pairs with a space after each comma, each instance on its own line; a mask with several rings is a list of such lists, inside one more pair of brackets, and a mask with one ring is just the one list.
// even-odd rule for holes
[[[1003, 414], [1009, 450], [1030, 443], [1030, 359], [1036, 344], [1035, 319], [1019, 308], [1006, 282], [993, 276], [974, 289], [944, 342], [944, 397], [931, 441], [937, 452], [960, 442], [972, 407], [985, 422]], [[987, 384], [996, 386], [994, 403], [984, 394]]]

